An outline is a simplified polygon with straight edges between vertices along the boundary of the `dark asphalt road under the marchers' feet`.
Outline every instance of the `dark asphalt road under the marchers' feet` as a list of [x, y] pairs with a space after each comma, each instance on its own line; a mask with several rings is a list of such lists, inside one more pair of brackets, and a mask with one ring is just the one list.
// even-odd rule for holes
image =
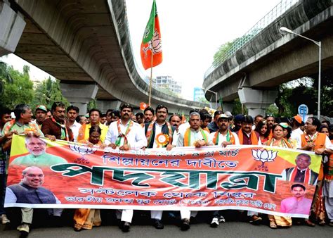
[[[140, 223], [136, 219], [136, 224]], [[0, 237], [18, 237], [17, 230], [8, 230], [4, 225], [0, 225]], [[294, 225], [290, 228], [271, 230], [267, 225], [254, 226], [249, 223], [231, 221], [221, 224], [217, 228], [211, 228], [207, 223], [200, 222], [192, 225], [190, 230], [182, 232], [176, 225], [165, 225], [164, 230], [156, 230], [147, 221], [140, 225], [132, 225], [129, 233], [124, 233], [117, 225], [104, 224], [101, 227], [94, 227], [93, 230], [83, 230], [74, 232], [70, 225], [65, 227], [42, 227], [35, 228], [30, 232], [29, 237], [333, 237], [333, 227], [306, 227], [304, 225]]]

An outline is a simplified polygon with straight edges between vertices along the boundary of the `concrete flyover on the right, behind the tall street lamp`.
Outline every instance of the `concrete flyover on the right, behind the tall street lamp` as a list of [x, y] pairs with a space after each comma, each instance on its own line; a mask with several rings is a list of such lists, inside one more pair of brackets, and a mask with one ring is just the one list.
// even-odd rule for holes
[[332, 75], [332, 4], [330, 0], [299, 1], [209, 73], [202, 87], [218, 92], [226, 102], [239, 96], [249, 114], [256, 115], [274, 103], [283, 82], [317, 77], [318, 46], [296, 35], [282, 35], [282, 26], [321, 41], [322, 71]]

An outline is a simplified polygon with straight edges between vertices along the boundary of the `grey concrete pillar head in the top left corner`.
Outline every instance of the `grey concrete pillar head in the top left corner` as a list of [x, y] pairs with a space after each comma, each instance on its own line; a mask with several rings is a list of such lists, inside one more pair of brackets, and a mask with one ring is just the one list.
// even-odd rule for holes
[[8, 1], [0, 1], [0, 57], [15, 51], [25, 24], [23, 16], [15, 13]]

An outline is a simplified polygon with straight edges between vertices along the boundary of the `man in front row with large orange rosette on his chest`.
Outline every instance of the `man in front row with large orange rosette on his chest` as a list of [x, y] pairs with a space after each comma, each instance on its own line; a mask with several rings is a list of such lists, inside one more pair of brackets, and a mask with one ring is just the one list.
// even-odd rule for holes
[[[168, 108], [164, 105], [157, 106], [156, 121], [145, 123], [145, 136], [147, 137], [147, 148], [166, 148], [167, 151], [172, 149], [172, 128], [166, 122], [168, 116]], [[150, 211], [152, 224], [156, 229], [163, 229], [161, 223], [163, 211]]]

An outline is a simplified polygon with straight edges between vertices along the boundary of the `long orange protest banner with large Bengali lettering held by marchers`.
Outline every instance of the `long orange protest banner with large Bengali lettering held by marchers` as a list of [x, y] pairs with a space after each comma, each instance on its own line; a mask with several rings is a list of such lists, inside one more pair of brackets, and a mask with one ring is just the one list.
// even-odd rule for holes
[[[237, 209], [308, 218], [321, 161], [313, 152], [270, 146], [119, 151], [43, 138], [25, 146], [29, 139], [13, 137], [6, 207]], [[296, 158], [302, 165], [308, 159], [303, 177]], [[30, 166], [44, 177], [18, 189]], [[29, 201], [25, 192], [56, 199]]]

